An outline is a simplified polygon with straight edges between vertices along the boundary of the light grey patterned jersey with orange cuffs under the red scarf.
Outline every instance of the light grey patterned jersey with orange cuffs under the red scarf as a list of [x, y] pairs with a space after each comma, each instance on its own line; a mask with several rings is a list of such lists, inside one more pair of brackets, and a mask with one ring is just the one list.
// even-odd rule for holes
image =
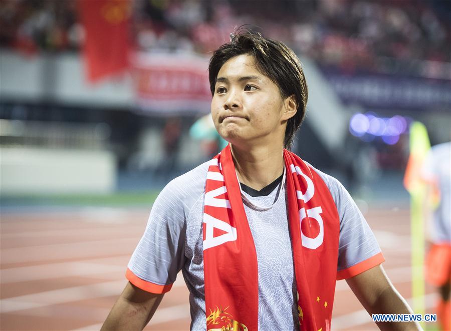
[[[349, 193], [335, 178], [311, 168], [329, 188], [340, 218], [337, 278], [380, 264], [380, 248]], [[152, 206], [145, 233], [128, 264], [132, 272], [128, 279], [146, 290], [158, 285], [167, 288], [164, 285], [173, 283], [182, 270], [190, 292], [193, 330], [206, 329], [202, 215], [207, 170], [205, 162], [166, 185]], [[262, 330], [294, 330], [299, 323], [285, 186], [282, 180], [264, 196], [241, 192], [257, 251], [258, 322]], [[142, 281], [151, 287], [140, 285]]]

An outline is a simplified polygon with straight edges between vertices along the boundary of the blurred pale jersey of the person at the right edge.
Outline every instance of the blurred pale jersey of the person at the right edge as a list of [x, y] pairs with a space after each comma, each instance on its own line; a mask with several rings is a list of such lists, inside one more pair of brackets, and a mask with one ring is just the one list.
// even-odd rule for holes
[[431, 239], [434, 243], [451, 243], [451, 142], [430, 149], [421, 176], [440, 192], [440, 202], [433, 213]]

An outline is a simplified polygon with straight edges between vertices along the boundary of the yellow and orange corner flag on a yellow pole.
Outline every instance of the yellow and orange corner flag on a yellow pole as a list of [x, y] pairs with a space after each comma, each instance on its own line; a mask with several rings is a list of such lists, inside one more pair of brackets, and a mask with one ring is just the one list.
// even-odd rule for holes
[[404, 175], [404, 186], [410, 193], [410, 230], [412, 247], [412, 309], [424, 314], [424, 228], [423, 201], [426, 184], [421, 180], [421, 169], [430, 149], [426, 127], [420, 122], [410, 126], [410, 155]]

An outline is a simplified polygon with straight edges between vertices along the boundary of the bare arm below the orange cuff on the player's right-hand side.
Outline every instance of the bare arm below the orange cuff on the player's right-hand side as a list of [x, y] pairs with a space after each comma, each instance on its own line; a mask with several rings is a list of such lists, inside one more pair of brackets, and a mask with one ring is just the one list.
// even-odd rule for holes
[[[407, 302], [377, 265], [356, 276], [346, 279], [349, 287], [369, 314], [410, 314]], [[381, 330], [421, 330], [417, 322], [376, 322]]]

